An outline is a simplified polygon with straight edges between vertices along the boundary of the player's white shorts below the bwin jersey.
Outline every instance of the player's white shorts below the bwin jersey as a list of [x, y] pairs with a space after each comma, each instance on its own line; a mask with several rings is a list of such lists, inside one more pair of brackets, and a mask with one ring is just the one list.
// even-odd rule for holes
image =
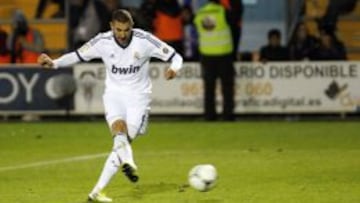
[[126, 95], [107, 92], [103, 95], [103, 102], [105, 118], [110, 128], [116, 120], [124, 120], [131, 139], [145, 133], [150, 111], [150, 94]]

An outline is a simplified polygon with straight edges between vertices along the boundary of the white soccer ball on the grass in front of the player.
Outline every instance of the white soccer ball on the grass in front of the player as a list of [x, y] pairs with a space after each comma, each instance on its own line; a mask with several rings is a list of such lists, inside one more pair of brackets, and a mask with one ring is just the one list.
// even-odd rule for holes
[[216, 179], [216, 168], [211, 164], [196, 165], [189, 172], [190, 186], [201, 192], [205, 192], [213, 188]]

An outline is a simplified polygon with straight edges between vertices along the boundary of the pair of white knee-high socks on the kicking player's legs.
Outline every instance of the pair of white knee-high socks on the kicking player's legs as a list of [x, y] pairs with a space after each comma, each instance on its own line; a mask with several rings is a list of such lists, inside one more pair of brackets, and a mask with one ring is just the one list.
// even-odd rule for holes
[[94, 196], [101, 192], [123, 163], [128, 163], [135, 170], [137, 169], [134, 163], [131, 145], [126, 137], [126, 134], [121, 133], [114, 137], [113, 151], [108, 156], [100, 178], [94, 189], [91, 191], [90, 196]]

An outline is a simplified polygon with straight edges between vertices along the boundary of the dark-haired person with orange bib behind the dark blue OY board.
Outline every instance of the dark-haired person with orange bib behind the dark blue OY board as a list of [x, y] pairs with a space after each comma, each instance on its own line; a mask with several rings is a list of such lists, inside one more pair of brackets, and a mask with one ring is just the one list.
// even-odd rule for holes
[[12, 34], [9, 37], [11, 63], [37, 63], [37, 58], [44, 52], [42, 34], [31, 28], [22, 11], [13, 16]]

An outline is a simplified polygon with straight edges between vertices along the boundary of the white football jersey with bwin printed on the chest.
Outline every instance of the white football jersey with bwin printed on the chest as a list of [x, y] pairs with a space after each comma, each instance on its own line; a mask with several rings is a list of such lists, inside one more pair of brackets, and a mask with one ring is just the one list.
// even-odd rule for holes
[[106, 67], [105, 92], [151, 93], [151, 57], [169, 61], [175, 50], [154, 35], [133, 29], [128, 46], [122, 47], [113, 32], [100, 33], [76, 51], [83, 61], [101, 58]]

